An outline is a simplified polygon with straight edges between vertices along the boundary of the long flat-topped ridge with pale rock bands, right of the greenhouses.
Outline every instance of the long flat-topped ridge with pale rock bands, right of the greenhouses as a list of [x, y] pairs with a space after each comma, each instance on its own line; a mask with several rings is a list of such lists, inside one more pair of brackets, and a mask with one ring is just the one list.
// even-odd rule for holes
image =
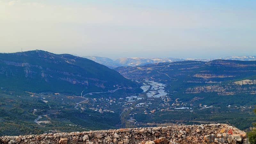
[[225, 81], [250, 78], [256, 75], [256, 61], [212, 60], [175, 61], [136, 67], [118, 67], [116, 71], [132, 80], [165, 81], [175, 87], [195, 84], [220, 84]]

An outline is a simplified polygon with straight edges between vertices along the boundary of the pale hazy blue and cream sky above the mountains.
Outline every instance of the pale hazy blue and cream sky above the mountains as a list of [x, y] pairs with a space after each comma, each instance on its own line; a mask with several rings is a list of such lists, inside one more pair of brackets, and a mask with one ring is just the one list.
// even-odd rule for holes
[[255, 0], [0, 0], [0, 52], [256, 55]]

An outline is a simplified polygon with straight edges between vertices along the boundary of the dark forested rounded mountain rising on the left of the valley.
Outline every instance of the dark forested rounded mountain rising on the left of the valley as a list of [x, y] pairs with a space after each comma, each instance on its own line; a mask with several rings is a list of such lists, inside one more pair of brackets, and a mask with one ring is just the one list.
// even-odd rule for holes
[[136, 84], [113, 69], [70, 54], [0, 53], [0, 87], [29, 92], [104, 92]]

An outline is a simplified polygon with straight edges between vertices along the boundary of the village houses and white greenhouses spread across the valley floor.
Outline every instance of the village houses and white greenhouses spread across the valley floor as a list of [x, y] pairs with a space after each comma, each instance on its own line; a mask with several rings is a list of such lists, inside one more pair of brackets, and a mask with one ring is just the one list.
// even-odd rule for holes
[[[141, 93], [134, 93], [133, 95], [128, 95], [126, 97], [113, 97], [111, 92], [104, 93], [91, 93], [89, 97], [86, 96], [66, 96], [58, 92], [55, 93], [31, 93], [31, 97], [41, 98], [44, 103], [47, 103], [51, 109], [51, 104], [49, 104], [51, 99], [66, 101], [67, 105], [72, 105], [75, 103], [73, 108], [83, 112], [84, 110], [92, 110], [100, 114], [103, 113], [115, 113], [120, 116], [126, 115], [128, 118], [126, 121], [132, 125], [137, 124], [136, 115], [152, 115], [159, 112], [165, 111], [190, 111], [193, 112], [193, 105], [188, 105], [188, 103], [182, 102], [179, 98], [172, 98], [175, 91], [168, 91], [167, 85], [152, 80], [144, 80], [141, 83]], [[117, 89], [118, 90], [118, 89]], [[68, 99], [68, 101], [67, 101]], [[200, 99], [195, 97], [195, 100]], [[72, 102], [73, 101], [73, 102]], [[65, 102], [64, 102], [65, 103]], [[200, 105], [201, 108], [212, 108], [206, 105]], [[38, 113], [39, 110], [35, 109]], [[49, 113], [50, 114], [50, 113]], [[47, 116], [48, 114], [45, 114]], [[40, 124], [48, 121], [42, 121], [42, 116], [38, 116], [35, 122]]]

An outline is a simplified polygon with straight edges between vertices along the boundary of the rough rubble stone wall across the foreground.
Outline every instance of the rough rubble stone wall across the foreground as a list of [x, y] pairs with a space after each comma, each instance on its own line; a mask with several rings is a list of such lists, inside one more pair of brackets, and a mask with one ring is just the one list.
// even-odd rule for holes
[[227, 124], [174, 125], [41, 135], [2, 136], [0, 144], [201, 144], [248, 143], [245, 132]]

